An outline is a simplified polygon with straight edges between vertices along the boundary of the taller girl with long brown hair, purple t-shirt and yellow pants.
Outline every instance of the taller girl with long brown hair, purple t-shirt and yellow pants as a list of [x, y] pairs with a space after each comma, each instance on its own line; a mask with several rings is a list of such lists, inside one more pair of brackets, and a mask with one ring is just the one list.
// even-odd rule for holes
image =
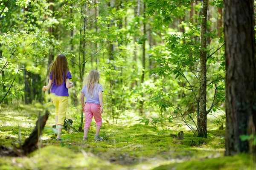
[[72, 79], [72, 76], [69, 71], [67, 57], [58, 54], [49, 71], [48, 85], [42, 89], [43, 91], [51, 89], [51, 99], [55, 106], [55, 125], [58, 129], [57, 141], [61, 141], [61, 131], [67, 113], [68, 88], [73, 87], [70, 79]]

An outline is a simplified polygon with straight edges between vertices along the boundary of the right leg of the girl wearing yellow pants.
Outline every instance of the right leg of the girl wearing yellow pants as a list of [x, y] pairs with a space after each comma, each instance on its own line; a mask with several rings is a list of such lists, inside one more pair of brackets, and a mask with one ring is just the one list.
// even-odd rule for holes
[[68, 105], [68, 96], [58, 96], [59, 100], [59, 113], [58, 113], [58, 122], [57, 122], [57, 128], [58, 128], [58, 136], [57, 139], [61, 138], [61, 130], [64, 125], [66, 113], [67, 113], [67, 105]]

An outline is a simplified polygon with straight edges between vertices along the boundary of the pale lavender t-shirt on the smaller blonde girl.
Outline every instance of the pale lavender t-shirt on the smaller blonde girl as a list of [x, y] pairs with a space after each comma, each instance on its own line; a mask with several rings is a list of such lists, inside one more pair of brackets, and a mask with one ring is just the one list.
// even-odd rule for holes
[[99, 91], [102, 91], [102, 85], [100, 84], [97, 84], [97, 85], [94, 85], [93, 87], [93, 96], [91, 96], [91, 93], [90, 91], [87, 92], [88, 88], [87, 88], [87, 85], [84, 85], [84, 87], [82, 88], [81, 92], [84, 93], [84, 96], [85, 96], [85, 103], [94, 103], [96, 105], [99, 105]]

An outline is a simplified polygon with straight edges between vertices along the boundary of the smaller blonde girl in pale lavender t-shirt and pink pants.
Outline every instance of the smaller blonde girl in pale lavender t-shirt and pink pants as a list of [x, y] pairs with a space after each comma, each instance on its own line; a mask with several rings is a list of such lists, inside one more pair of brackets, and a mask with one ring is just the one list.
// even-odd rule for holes
[[[88, 131], [93, 116], [96, 122], [96, 134], [94, 140], [102, 140], [99, 131], [102, 126], [102, 85], [99, 84], [99, 72], [91, 70], [85, 78], [85, 85], [81, 90], [81, 104], [84, 111], [84, 140], [88, 140]], [[85, 97], [85, 102], [84, 102]]]

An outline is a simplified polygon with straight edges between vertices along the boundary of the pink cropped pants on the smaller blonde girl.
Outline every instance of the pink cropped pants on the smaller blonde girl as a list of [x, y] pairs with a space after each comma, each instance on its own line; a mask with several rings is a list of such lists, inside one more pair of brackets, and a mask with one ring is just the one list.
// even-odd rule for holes
[[85, 103], [84, 106], [84, 129], [90, 129], [90, 123], [92, 122], [94, 116], [94, 120], [97, 126], [102, 126], [102, 117], [100, 113], [100, 105], [96, 105], [94, 103]]

